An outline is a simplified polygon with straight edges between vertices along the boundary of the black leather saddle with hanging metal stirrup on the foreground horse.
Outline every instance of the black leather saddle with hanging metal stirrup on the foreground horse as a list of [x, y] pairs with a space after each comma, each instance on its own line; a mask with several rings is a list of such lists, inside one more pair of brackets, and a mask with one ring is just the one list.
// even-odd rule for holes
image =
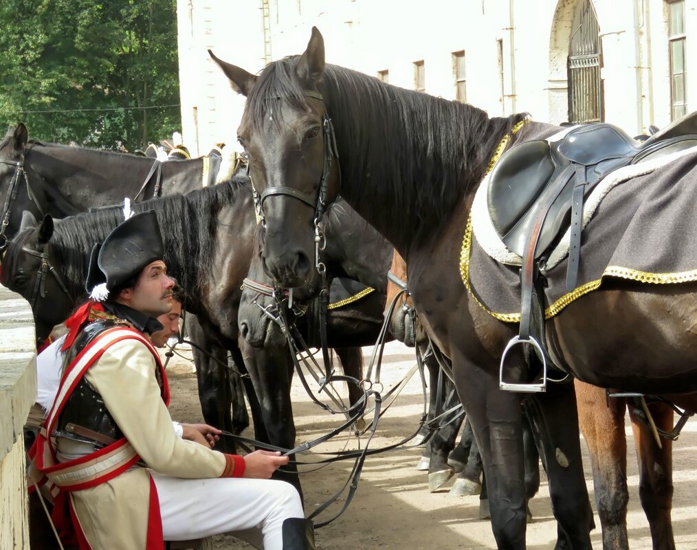
[[[553, 365], [544, 346], [543, 267], [553, 245], [571, 224], [567, 290], [576, 288], [581, 258], [583, 201], [602, 179], [622, 166], [647, 162], [697, 146], [697, 112], [637, 141], [607, 123], [576, 127], [562, 139], [528, 141], [505, 152], [491, 172], [487, 202], [493, 227], [504, 244], [523, 258], [519, 336], [506, 346], [501, 359], [500, 387], [510, 391], [545, 391], [547, 366]], [[503, 370], [508, 351], [531, 345], [542, 361], [539, 384], [507, 384]]]

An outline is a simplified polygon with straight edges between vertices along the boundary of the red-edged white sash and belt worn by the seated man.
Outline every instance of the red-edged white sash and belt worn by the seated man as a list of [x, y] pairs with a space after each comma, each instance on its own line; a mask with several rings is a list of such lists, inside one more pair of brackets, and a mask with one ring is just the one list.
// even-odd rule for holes
[[[79, 459], [58, 462], [56, 443], [51, 440], [50, 434], [52, 434], [56, 421], [58, 421], [72, 391], [75, 390], [87, 370], [98, 361], [110, 346], [129, 339], [143, 343], [153, 354], [155, 364], [162, 377], [162, 400], [164, 404], [169, 404], [167, 376], [164, 374], [160, 356], [150, 341], [138, 331], [127, 327], [107, 329], [86, 345], [63, 372], [56, 400], [30, 451], [33, 478], [37, 485], [47, 483], [49, 492], [54, 497], [53, 519], [56, 528], [59, 529], [61, 539], [67, 544], [79, 544], [81, 550], [91, 550], [91, 547], [82, 533], [79, 520], [72, 507], [72, 499], [68, 498], [70, 492], [95, 487], [112, 480], [138, 462], [140, 457], [124, 437]], [[149, 508], [146, 550], [162, 550], [164, 542], [162, 540], [160, 504], [152, 478], [150, 478]]]

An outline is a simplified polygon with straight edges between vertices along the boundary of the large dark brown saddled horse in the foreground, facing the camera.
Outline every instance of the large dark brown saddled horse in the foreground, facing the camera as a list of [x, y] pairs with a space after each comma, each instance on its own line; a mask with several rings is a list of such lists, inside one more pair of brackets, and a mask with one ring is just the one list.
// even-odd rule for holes
[[[395, 245], [407, 261], [420, 322], [452, 359], [484, 458], [497, 544], [525, 547], [521, 395], [499, 388], [503, 350], [518, 327], [480, 306], [457, 259], [475, 191], [499, 144], [544, 139], [559, 128], [531, 122], [513, 135], [524, 113], [489, 118], [470, 105], [325, 65], [316, 29], [302, 55], [270, 63], [259, 77], [219, 64], [247, 96], [238, 136], [261, 194], [266, 269], [286, 288], [312, 276], [314, 218], [339, 190]], [[695, 172], [694, 155], [676, 163], [673, 193]], [[591, 384], [648, 394], [697, 391], [696, 292], [690, 278], [656, 286], [610, 278], [546, 322], [547, 345], [568, 373]], [[508, 377], [529, 380], [523, 352], [509, 355]], [[526, 399], [526, 407], [547, 436], [557, 547], [590, 548], [574, 390], [571, 384], [546, 390]]]

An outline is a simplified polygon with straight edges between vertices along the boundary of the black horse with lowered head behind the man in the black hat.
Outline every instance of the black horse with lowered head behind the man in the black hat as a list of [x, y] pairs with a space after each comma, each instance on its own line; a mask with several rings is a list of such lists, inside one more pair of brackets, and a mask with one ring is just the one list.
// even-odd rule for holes
[[[236, 320], [237, 311], [236, 308], [231, 313], [230, 310], [223, 311], [220, 304], [231, 298], [231, 307], [234, 308], [241, 291], [237, 288], [235, 300], [234, 288], [220, 288], [218, 271], [225, 273], [229, 270], [230, 276], [237, 274], [238, 286], [246, 274], [255, 223], [247, 182], [245, 178], [233, 178], [227, 184], [192, 191], [185, 196], [171, 195], [132, 205], [137, 212], [144, 208], [161, 212], [160, 226], [167, 242], [170, 272], [185, 289], [185, 309], [196, 315], [206, 341], [229, 350], [240, 369], [244, 369], [244, 362], [237, 347], [237, 323], [226, 324], [226, 316]], [[245, 212], [249, 215], [245, 216]], [[47, 214], [38, 225], [31, 214], [26, 214], [24, 221], [26, 227], [9, 242], [4, 254], [1, 282], [29, 300], [36, 317], [42, 318], [48, 312], [61, 320], [66, 319], [72, 308], [86, 298], [85, 262], [90, 243], [103, 239], [123, 221], [123, 207], [103, 207], [58, 221]], [[250, 228], [246, 239], [245, 223]], [[216, 237], [225, 243], [227, 255], [214, 258], [213, 241]], [[215, 242], [215, 246], [220, 246], [220, 242]], [[236, 262], [235, 258], [240, 261]], [[201, 290], [204, 287], [206, 292]], [[226, 332], [227, 327], [232, 331]], [[227, 367], [227, 352], [223, 352], [219, 359], [222, 364], [208, 359], [204, 368], [197, 366], [201, 409], [206, 422], [223, 430], [238, 432], [245, 426], [238, 425], [240, 418], [236, 418], [238, 423], [233, 425], [229, 412], [228, 379], [233, 373]], [[250, 401], [253, 401], [251, 396]], [[244, 404], [242, 410], [246, 414]], [[234, 449], [229, 439], [222, 441], [221, 445], [226, 450]]]

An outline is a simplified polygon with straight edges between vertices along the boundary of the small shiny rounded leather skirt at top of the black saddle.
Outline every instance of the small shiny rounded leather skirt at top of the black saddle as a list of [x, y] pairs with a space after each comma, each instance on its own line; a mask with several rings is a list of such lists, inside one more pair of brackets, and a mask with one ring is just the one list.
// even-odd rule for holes
[[632, 157], [639, 143], [620, 128], [599, 123], [572, 129], [553, 147], [571, 162], [592, 166], [607, 159]]

